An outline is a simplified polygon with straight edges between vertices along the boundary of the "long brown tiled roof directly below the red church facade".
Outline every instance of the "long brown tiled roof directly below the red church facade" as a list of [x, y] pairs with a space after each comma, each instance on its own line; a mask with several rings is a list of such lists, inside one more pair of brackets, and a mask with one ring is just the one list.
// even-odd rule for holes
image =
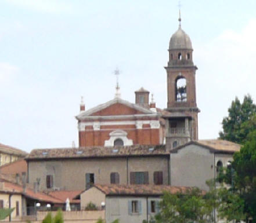
[[[153, 148], [153, 150], [150, 148]], [[168, 151], [166, 151], [165, 145], [131, 145], [124, 147], [33, 149], [26, 159], [100, 158], [110, 156], [151, 156], [167, 154]]]

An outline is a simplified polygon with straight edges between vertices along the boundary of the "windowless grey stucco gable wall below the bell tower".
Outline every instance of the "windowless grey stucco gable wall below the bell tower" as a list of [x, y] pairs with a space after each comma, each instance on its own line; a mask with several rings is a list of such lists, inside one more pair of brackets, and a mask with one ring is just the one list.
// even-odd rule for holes
[[199, 145], [188, 145], [171, 153], [171, 185], [208, 190], [205, 181], [214, 178], [214, 153]]

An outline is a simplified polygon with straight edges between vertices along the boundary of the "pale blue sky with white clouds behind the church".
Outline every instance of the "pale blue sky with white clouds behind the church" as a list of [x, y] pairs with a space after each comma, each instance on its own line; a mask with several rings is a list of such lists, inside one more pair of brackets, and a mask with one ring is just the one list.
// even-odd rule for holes
[[[256, 99], [256, 1], [181, 2], [194, 49], [199, 138], [217, 138], [231, 101]], [[167, 105], [168, 42], [178, 0], [1, 0], [0, 142], [23, 149], [78, 145], [86, 109], [141, 86]]]

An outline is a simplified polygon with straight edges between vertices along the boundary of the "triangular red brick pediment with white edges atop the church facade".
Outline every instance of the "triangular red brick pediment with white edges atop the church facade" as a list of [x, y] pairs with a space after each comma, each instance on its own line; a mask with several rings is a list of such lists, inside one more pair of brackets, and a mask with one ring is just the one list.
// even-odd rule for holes
[[79, 120], [88, 116], [117, 116], [117, 115], [147, 115], [157, 114], [149, 108], [142, 107], [121, 98], [114, 98], [107, 103], [100, 104], [88, 111], [81, 112], [76, 118]]

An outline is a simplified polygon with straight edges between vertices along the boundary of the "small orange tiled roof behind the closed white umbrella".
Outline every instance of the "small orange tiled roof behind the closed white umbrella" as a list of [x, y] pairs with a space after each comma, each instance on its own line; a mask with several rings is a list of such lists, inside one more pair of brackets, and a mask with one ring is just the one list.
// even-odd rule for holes
[[62, 200], [63, 203], [66, 202], [67, 198], [70, 200], [70, 203], [80, 203], [80, 200], [75, 199], [77, 195], [80, 195], [80, 191], [50, 191], [45, 192], [48, 195], [51, 195], [54, 198], [57, 198], [59, 200]]

